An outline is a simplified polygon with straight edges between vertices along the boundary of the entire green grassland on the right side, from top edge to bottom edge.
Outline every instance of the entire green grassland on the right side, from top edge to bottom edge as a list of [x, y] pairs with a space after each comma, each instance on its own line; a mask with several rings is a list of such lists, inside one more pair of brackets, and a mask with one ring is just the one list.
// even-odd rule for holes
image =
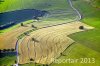
[[[92, 5], [83, 0], [73, 2], [75, 7], [81, 12], [84, 22], [95, 27], [93, 30], [75, 33], [70, 37], [76, 41], [71, 47], [65, 50], [64, 54], [59, 59], [68, 58], [95, 58], [95, 63], [61, 63], [52, 64], [51, 66], [99, 66], [100, 65], [100, 10], [93, 8]], [[70, 51], [68, 51], [70, 49]]]

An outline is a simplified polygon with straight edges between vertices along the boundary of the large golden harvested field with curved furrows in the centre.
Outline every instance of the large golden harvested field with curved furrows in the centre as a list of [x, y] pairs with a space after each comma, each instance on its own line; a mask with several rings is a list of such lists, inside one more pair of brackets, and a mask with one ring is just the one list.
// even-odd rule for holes
[[81, 22], [71, 22], [68, 24], [52, 26], [39, 29], [19, 40], [19, 63], [29, 63], [33, 59], [35, 63], [50, 64], [52, 59], [57, 58], [61, 53], [71, 45], [74, 40], [68, 35], [84, 30], [79, 26], [83, 25], [85, 29], [93, 29]]

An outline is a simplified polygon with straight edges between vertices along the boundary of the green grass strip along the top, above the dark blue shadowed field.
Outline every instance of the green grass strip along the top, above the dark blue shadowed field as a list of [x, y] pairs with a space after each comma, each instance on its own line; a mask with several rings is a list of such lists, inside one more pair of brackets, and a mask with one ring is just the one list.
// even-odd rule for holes
[[[63, 4], [63, 5], [62, 5]], [[56, 10], [66, 9], [66, 0], [5, 0], [0, 4], [0, 12], [22, 9]]]

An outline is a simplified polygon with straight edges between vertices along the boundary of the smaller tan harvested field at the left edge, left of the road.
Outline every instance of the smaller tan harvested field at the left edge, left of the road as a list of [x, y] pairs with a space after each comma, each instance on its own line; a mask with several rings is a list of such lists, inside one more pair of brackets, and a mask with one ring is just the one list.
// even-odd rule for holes
[[31, 27], [27, 26], [21, 26], [16, 29], [13, 29], [10, 32], [4, 33], [3, 35], [0, 35], [0, 49], [11, 49], [15, 48], [17, 37], [24, 33], [27, 30], [30, 30]]

